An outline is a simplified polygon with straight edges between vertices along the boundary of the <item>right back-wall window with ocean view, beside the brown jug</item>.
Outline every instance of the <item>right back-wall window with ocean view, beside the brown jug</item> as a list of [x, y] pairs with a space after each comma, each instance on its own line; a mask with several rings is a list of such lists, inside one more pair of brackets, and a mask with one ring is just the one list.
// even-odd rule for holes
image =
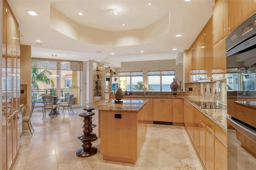
[[175, 70], [148, 71], [148, 91], [171, 91]]

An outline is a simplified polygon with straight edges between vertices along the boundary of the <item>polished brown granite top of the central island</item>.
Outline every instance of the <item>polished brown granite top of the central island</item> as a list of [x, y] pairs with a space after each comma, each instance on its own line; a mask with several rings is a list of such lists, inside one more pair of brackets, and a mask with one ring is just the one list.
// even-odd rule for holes
[[98, 111], [126, 111], [138, 112], [148, 100], [122, 100], [122, 104], [115, 104], [114, 100], [98, 100], [87, 105]]

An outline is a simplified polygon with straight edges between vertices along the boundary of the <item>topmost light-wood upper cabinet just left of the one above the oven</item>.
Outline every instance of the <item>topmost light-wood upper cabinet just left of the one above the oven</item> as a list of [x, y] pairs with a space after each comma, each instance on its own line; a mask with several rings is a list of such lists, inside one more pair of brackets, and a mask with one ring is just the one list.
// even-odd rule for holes
[[212, 12], [213, 44], [215, 45], [229, 33], [228, 31], [228, 1], [217, 0]]

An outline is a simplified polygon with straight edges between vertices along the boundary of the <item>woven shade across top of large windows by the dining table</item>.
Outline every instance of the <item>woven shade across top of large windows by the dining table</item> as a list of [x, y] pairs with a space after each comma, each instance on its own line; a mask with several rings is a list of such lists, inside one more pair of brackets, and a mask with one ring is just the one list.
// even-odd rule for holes
[[31, 59], [31, 68], [49, 69], [49, 70], [73, 70], [82, 71], [82, 61], [57, 60], [57, 59]]

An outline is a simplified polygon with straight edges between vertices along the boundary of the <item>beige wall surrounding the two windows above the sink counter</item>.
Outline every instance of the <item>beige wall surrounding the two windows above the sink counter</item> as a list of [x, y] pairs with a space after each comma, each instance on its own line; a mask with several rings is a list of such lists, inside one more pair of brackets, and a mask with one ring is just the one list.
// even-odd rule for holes
[[176, 65], [175, 60], [156, 60], [156, 61], [136, 61], [136, 62], [122, 62], [119, 71], [143, 71], [143, 84], [148, 84], [149, 70], [175, 70], [178, 82], [182, 80], [182, 89], [184, 89], [183, 81], [183, 65]]

